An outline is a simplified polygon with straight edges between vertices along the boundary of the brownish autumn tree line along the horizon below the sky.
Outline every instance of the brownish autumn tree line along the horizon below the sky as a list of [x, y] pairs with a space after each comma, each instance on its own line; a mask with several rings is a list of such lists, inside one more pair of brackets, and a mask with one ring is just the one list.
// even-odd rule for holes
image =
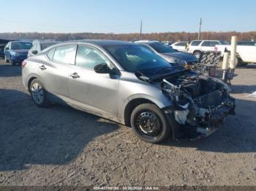
[[[238, 36], [238, 40], [256, 40], [256, 31], [250, 32], [203, 32], [201, 39], [218, 39], [230, 41], [231, 36]], [[142, 34], [141, 39], [158, 41], [191, 41], [197, 39], [198, 33], [165, 32]], [[99, 34], [99, 33], [0, 33], [0, 39], [56, 39], [59, 41], [78, 39], [118, 39], [124, 41], [136, 41], [140, 39], [139, 33], [133, 34]]]

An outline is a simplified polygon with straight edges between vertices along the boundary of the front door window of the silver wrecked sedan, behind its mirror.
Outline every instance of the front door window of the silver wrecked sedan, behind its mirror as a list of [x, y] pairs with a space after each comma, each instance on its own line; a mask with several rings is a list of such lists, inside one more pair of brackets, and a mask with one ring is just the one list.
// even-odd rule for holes
[[75, 66], [80, 66], [85, 69], [94, 69], [94, 66], [98, 64], [106, 63], [111, 68], [111, 62], [102, 52], [95, 49], [94, 47], [89, 47], [86, 45], [79, 45], [78, 52], [75, 59]]

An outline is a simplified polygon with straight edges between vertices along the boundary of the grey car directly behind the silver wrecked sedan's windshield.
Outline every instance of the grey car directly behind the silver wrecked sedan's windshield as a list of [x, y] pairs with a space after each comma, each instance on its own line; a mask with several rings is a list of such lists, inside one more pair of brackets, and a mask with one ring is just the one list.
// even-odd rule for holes
[[181, 66], [197, 63], [197, 58], [195, 58], [194, 55], [188, 54], [186, 52], [178, 52], [172, 47], [169, 47], [158, 41], [137, 41], [135, 43], [140, 44], [141, 46], [146, 47], [148, 50], [155, 52], [169, 63], [178, 63]]

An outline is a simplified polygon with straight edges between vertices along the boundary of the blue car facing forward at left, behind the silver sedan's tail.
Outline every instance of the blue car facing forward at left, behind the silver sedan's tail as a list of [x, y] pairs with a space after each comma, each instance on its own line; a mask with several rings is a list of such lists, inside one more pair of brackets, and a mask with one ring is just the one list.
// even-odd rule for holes
[[4, 47], [4, 60], [12, 65], [22, 63], [27, 57], [31, 42], [12, 41]]

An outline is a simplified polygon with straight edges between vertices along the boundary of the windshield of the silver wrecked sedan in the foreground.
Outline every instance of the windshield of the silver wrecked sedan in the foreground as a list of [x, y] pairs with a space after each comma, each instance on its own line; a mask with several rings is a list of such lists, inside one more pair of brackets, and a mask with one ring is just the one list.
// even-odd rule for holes
[[105, 50], [127, 71], [170, 68], [171, 65], [159, 55], [136, 44], [105, 46]]

